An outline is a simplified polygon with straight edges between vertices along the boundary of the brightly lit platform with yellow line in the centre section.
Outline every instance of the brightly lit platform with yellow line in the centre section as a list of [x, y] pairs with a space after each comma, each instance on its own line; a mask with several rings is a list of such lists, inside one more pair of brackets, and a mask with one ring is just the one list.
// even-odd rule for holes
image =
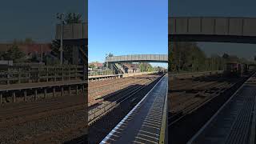
[[166, 74], [101, 143], [167, 143], [167, 85]]

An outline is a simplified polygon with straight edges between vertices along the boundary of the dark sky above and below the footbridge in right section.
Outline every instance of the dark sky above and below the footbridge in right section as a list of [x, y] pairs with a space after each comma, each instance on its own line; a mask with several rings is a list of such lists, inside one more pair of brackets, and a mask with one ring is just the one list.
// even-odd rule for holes
[[[169, 0], [170, 16], [219, 16], [256, 18], [255, 0]], [[198, 42], [206, 54], [236, 54], [243, 58], [256, 55], [256, 45]]]

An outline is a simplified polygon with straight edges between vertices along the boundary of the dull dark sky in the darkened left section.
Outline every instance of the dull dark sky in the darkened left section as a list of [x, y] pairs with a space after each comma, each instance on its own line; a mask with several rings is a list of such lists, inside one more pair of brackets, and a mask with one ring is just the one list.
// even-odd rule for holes
[[86, 18], [85, 0], [8, 0], [0, 4], [0, 42], [33, 38], [50, 42], [54, 38], [57, 13], [80, 13]]

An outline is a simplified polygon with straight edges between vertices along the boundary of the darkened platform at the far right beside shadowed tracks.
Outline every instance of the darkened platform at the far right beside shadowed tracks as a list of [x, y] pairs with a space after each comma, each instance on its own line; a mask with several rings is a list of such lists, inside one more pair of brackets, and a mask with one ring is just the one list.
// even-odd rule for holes
[[230, 97], [188, 144], [255, 143], [256, 74]]

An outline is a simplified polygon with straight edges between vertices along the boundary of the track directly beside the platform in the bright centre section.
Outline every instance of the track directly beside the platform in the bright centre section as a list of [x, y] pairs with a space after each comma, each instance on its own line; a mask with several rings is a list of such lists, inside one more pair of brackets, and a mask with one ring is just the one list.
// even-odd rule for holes
[[[89, 121], [89, 143], [101, 142], [106, 134], [118, 124], [160, 78], [162, 76], [154, 79], [153, 82], [145, 82], [142, 85], [131, 87], [130, 90], [126, 91], [126, 94], [120, 94], [122, 97], [118, 97], [115, 101], [106, 104], [101, 110], [97, 110], [97, 112], [100, 111], [99, 114], [89, 114], [89, 119], [91, 119]], [[90, 134], [92, 135], [90, 136]]]

